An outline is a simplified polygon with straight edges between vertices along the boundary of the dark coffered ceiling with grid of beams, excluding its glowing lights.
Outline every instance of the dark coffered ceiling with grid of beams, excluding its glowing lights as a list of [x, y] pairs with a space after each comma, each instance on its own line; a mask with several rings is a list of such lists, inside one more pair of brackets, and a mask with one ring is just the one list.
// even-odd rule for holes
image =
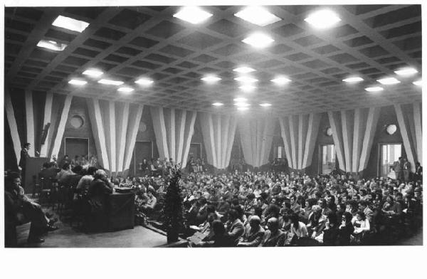
[[[245, 97], [251, 103], [245, 113], [274, 115], [421, 100], [421, 87], [412, 83], [421, 78], [421, 5], [327, 6], [341, 21], [326, 30], [304, 21], [325, 7], [266, 6], [281, 20], [263, 27], [234, 16], [242, 6], [204, 6], [212, 16], [200, 24], [175, 18], [179, 6], [6, 7], [6, 86], [221, 113], [235, 113], [233, 99]], [[52, 26], [59, 15], [90, 24], [82, 33]], [[275, 41], [262, 49], [243, 43], [253, 31]], [[68, 46], [50, 51], [36, 46], [42, 39]], [[242, 65], [255, 69], [252, 93], [243, 93], [233, 80], [233, 69]], [[394, 73], [406, 66], [418, 73]], [[101, 85], [82, 75], [88, 68], [135, 91], [124, 95], [117, 86]], [[207, 84], [201, 80], [207, 74], [221, 80]], [[270, 80], [278, 75], [292, 81], [275, 85]], [[353, 75], [364, 81], [342, 81]], [[135, 84], [141, 77], [154, 83]], [[384, 77], [401, 83], [382, 85], [379, 93], [364, 90]], [[70, 85], [72, 78], [88, 84]], [[260, 107], [261, 102], [272, 106]]]

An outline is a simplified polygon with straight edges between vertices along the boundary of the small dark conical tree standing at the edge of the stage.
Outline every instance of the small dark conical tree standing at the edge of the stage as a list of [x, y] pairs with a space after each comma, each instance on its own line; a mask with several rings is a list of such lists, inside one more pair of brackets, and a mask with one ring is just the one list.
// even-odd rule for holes
[[164, 228], [167, 231], [167, 242], [178, 241], [178, 234], [184, 222], [183, 201], [181, 198], [181, 169], [175, 167], [172, 169], [172, 175], [169, 177], [169, 186], [164, 196]]

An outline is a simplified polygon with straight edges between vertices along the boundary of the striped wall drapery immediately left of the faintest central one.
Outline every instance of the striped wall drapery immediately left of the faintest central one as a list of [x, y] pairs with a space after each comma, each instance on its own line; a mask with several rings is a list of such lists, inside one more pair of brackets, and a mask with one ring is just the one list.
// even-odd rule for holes
[[231, 148], [236, 135], [236, 117], [200, 113], [201, 133], [206, 149], [206, 161], [217, 169], [230, 164]]

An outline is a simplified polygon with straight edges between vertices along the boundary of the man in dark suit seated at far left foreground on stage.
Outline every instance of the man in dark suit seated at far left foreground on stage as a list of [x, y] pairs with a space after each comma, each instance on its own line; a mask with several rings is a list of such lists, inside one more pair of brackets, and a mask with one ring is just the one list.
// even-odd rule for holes
[[13, 172], [6, 177], [4, 192], [5, 226], [16, 226], [31, 222], [28, 243], [42, 243], [41, 236], [46, 231], [55, 231], [58, 227], [53, 224], [58, 219], [48, 219], [41, 205], [28, 199], [21, 187], [21, 177]]

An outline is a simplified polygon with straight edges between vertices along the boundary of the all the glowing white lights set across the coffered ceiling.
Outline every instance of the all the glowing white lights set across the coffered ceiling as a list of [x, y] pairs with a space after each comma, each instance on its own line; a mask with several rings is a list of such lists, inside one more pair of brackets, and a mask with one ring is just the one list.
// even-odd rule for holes
[[[271, 23], [275, 23], [281, 20], [278, 16], [271, 14], [269, 11], [267, 11], [266, 9], [260, 6], [248, 6], [234, 15], [243, 20], [256, 24], [258, 26], [267, 26]], [[188, 21], [193, 24], [206, 21], [206, 19], [209, 19], [209, 17], [211, 16], [212, 14], [200, 9], [197, 6], [183, 7], [182, 9], [179, 10], [179, 12], [174, 14], [174, 17], [184, 21]], [[313, 27], [321, 29], [321, 28], [332, 27], [334, 26], [334, 24], [341, 21], [341, 19], [339, 19], [337, 14], [334, 14], [333, 11], [323, 9], [323, 10], [315, 11], [314, 13], [310, 14], [310, 16], [308, 16], [305, 19], [305, 21], [307, 23], [310, 23], [310, 25], [312, 25]], [[89, 26], [89, 23], [85, 21], [78, 21], [76, 19], [71, 19], [65, 16], [58, 16], [56, 20], [53, 21], [52, 25], [60, 28], [67, 28], [68, 30], [72, 30], [72, 31], [83, 32], [85, 28]], [[263, 48], [273, 43], [274, 39], [270, 38], [270, 36], [265, 35], [263, 33], [253, 33], [251, 36], [248, 36], [242, 41], [243, 43], [248, 43], [249, 45], [254, 46], [256, 48]], [[53, 51], [63, 51], [67, 45], [63, 43], [57, 43], [55, 41], [41, 40], [39, 41], [37, 46], [40, 46], [43, 48], [49, 48]], [[247, 66], [235, 68], [233, 70], [236, 71], [237, 73], [243, 73], [243, 74], [251, 73], [255, 71], [255, 69]], [[413, 75], [415, 73], [418, 73], [418, 71], [413, 68], [404, 68], [401, 70], [396, 70], [395, 73], [397, 75], [408, 76], [408, 75]], [[86, 70], [83, 74], [90, 75], [93, 77], [100, 77], [100, 75], [102, 75], [103, 73], [100, 70], [90, 69], [90, 70]], [[221, 78], [218, 78], [215, 75], [207, 75], [204, 78], [201, 78], [201, 80], [204, 80], [207, 83], [214, 83], [218, 80], [221, 80]], [[234, 78], [234, 80], [242, 83], [242, 85], [239, 88], [245, 92], [254, 90], [255, 86], [253, 85], [253, 83], [258, 81], [255, 78], [252, 78], [250, 76], [245, 76], [245, 75], [238, 76], [237, 78]], [[360, 77], [350, 77], [350, 78], [344, 79], [343, 81], [346, 83], [358, 83], [362, 80], [363, 78], [360, 78]], [[278, 85], [284, 85], [286, 83], [289, 83], [291, 80], [284, 76], [279, 76], [270, 81]], [[382, 78], [377, 81], [383, 85], [400, 83], [400, 81], [397, 80], [396, 78]], [[98, 80], [97, 82], [105, 85], [117, 85], [117, 86], [124, 84], [122, 81], [119, 81], [119, 80], [108, 80], [108, 79], [101, 79], [101, 80]], [[73, 79], [73, 80], [70, 80], [68, 83], [72, 85], [85, 85], [87, 82], [85, 80]], [[141, 85], [151, 85], [153, 83], [153, 80], [149, 80], [147, 78], [140, 78], [139, 80], [136, 80], [135, 83], [138, 83]], [[413, 82], [413, 84], [415, 85], [421, 85], [421, 83], [422, 83], [421, 80], [417, 80]], [[133, 88], [127, 87], [127, 86], [122, 86], [118, 88], [118, 91], [122, 93], [131, 93], [133, 90], [134, 90]], [[379, 86], [374, 86], [374, 87], [365, 88], [365, 90], [367, 90], [368, 92], [378, 92], [378, 91], [384, 90], [384, 88], [381, 88]], [[215, 102], [213, 105], [221, 106], [223, 104], [221, 102]], [[249, 106], [249, 104], [246, 101], [236, 102], [235, 105], [238, 108], [241, 108], [241, 110], [245, 108], [247, 109]], [[263, 107], [269, 107], [271, 104], [263, 103], [260, 105]]]

